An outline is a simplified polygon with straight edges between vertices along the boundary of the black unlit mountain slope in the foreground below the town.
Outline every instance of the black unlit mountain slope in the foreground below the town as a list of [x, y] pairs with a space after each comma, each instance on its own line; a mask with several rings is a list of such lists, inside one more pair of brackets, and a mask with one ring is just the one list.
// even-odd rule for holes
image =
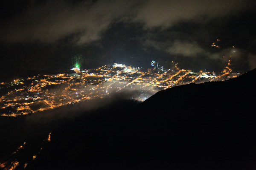
[[183, 85], [68, 120], [26, 169], [255, 169], [255, 78]]

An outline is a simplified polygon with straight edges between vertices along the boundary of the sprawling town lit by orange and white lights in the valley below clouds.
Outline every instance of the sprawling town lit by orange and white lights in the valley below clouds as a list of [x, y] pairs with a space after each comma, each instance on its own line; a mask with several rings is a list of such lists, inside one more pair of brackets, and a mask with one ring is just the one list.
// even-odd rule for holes
[[[233, 47], [234, 48], [234, 47]], [[235, 51], [234, 51], [235, 53]], [[232, 55], [230, 55], [231, 57]], [[178, 68], [166, 69], [152, 61], [151, 68], [113, 64], [96, 69], [80, 70], [76, 63], [73, 73], [38, 75], [2, 82], [0, 90], [0, 115], [19, 116], [64, 105], [111, 97], [111, 94], [134, 91], [130, 99], [144, 101], [157, 91], [189, 83], [224, 81], [239, 76], [230, 68], [230, 60], [220, 73], [198, 73]]]

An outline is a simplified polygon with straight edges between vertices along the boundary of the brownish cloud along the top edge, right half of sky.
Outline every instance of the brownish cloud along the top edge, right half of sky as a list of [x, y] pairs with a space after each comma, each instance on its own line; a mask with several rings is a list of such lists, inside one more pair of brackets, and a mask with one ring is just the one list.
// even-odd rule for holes
[[170, 27], [186, 20], [202, 22], [250, 9], [250, 1], [241, 0], [149, 0], [138, 11], [134, 20], [146, 28]]

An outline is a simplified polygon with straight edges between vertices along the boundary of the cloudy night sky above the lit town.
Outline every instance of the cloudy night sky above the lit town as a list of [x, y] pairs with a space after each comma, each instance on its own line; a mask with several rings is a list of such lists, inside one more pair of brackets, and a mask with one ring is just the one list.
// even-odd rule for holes
[[[24, 0], [0, 5], [1, 80], [114, 62], [220, 71], [256, 68], [253, 0]], [[220, 48], [211, 47], [220, 39]]]

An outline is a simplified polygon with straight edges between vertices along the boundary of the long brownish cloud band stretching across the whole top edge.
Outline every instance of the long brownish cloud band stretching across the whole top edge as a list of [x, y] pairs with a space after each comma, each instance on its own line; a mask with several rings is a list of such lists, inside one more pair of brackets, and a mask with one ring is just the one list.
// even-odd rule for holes
[[77, 44], [99, 40], [112, 23], [142, 23], [145, 29], [202, 22], [250, 9], [241, 0], [98, 0], [95, 3], [49, 1], [3, 23], [2, 42], [53, 43], [66, 37]]

